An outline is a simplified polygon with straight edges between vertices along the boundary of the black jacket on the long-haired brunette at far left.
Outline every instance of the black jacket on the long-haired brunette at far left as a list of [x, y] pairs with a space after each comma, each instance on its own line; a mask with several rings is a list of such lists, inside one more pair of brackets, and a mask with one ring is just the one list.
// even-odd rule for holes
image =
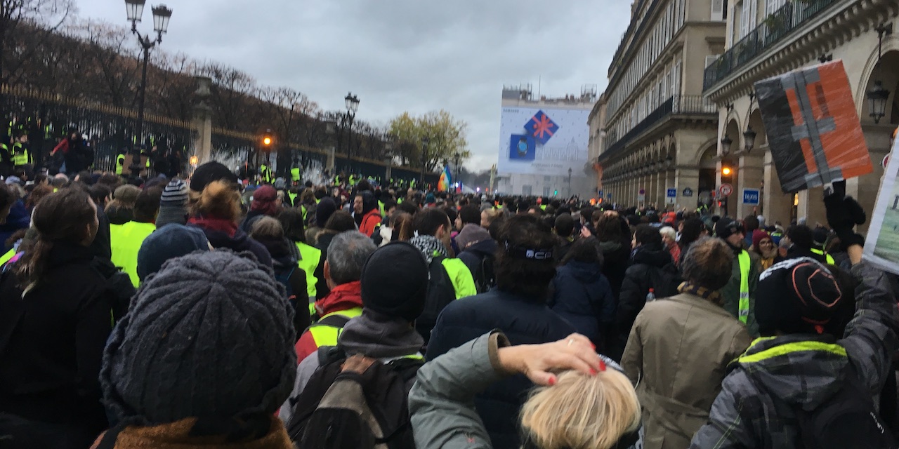
[[56, 242], [24, 298], [12, 271], [0, 280], [0, 414], [81, 429], [85, 447], [108, 427], [98, 379], [113, 305], [91, 260], [87, 247]]

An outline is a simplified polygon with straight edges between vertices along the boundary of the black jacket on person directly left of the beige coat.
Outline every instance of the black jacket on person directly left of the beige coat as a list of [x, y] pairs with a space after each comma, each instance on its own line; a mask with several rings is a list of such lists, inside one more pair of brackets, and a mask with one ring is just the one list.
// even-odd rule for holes
[[[666, 276], [666, 273], [668, 274]], [[649, 289], [654, 289], [656, 298], [677, 295], [677, 286], [663, 286], [665, 277], [676, 277], [671, 252], [667, 249], [638, 247], [625, 272], [619, 293], [618, 310], [615, 313], [615, 340], [610, 342], [609, 357], [620, 360], [625, 345], [628, 344], [630, 328], [634, 326], [636, 315], [646, 304]]]

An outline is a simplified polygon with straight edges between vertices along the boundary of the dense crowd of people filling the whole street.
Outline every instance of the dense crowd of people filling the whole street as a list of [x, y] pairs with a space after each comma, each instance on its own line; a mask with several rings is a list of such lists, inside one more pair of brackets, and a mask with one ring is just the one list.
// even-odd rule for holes
[[892, 448], [896, 278], [829, 228], [272, 180], [0, 184], [0, 448]]

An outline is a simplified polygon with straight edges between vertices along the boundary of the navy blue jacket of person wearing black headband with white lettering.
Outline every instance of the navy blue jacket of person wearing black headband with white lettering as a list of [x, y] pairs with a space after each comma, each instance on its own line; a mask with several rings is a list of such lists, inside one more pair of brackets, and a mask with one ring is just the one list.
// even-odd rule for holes
[[[575, 331], [571, 323], [543, 301], [494, 288], [447, 305], [432, 330], [426, 356], [433, 360], [494, 329], [503, 330], [512, 345], [548, 343], [565, 339]], [[519, 410], [533, 386], [527, 377], [518, 374], [477, 395], [475, 406], [495, 449], [521, 446]]]

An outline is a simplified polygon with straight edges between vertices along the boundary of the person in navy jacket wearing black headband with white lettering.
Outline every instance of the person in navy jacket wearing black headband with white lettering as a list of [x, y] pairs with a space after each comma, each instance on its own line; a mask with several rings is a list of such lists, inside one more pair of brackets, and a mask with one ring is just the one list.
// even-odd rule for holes
[[[573, 333], [574, 327], [546, 304], [556, 277], [555, 243], [556, 237], [537, 217], [509, 218], [496, 251], [496, 288], [443, 309], [428, 345], [429, 360], [494, 329], [503, 330], [516, 345], [547, 343]], [[477, 396], [477, 411], [494, 447], [519, 447], [516, 418], [523, 393], [532, 386], [525, 376], [516, 375]]]

